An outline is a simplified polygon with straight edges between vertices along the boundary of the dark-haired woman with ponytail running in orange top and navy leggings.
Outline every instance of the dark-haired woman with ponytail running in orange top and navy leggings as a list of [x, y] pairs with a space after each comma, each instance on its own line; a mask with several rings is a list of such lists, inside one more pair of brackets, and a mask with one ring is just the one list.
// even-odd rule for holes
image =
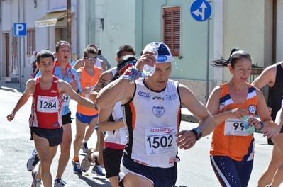
[[[215, 59], [213, 67], [228, 67], [230, 81], [213, 89], [206, 104], [216, 120], [211, 142], [211, 165], [222, 186], [248, 186], [253, 169], [255, 129], [265, 137], [278, 135], [262, 92], [248, 84], [252, 59], [234, 48], [228, 60]], [[258, 113], [260, 120], [255, 118]], [[244, 121], [246, 119], [246, 121]]]

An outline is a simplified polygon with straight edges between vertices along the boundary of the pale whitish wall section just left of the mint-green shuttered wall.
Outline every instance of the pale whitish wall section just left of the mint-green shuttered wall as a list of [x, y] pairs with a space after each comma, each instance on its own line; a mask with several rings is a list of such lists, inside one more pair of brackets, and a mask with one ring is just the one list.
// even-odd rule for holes
[[97, 18], [104, 18], [100, 48], [111, 66], [116, 67], [118, 47], [125, 44], [135, 46], [135, 1], [96, 0], [96, 7]]

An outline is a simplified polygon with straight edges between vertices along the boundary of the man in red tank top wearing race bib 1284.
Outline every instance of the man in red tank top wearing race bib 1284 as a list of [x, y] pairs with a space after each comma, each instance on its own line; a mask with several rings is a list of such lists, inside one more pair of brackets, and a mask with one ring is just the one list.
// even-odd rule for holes
[[[18, 110], [28, 101], [33, 94], [32, 114], [30, 115], [30, 133], [35, 142], [35, 148], [40, 158], [38, 171], [33, 170], [32, 186], [38, 186], [43, 179], [44, 186], [52, 186], [50, 165], [57, 152], [58, 145], [62, 142], [62, 95], [68, 94], [82, 106], [95, 108], [96, 104], [79, 96], [73, 91], [72, 86], [66, 81], [57, 79], [52, 75], [54, 56], [50, 50], [41, 50], [37, 54], [37, 66], [42, 73], [36, 79], [29, 79], [26, 90], [16, 103], [7, 120], [15, 118]], [[45, 163], [45, 164], [41, 164]]]

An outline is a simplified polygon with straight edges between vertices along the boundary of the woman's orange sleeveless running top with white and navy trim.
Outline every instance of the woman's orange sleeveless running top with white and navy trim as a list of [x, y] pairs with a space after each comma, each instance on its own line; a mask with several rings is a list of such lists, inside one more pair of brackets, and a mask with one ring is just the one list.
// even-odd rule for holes
[[[220, 84], [221, 95], [218, 113], [228, 111], [233, 108], [247, 108], [249, 116], [255, 117], [257, 107], [257, 95], [255, 87], [248, 84], [248, 97], [245, 102], [238, 105], [233, 102], [228, 91], [227, 84]], [[239, 119], [238, 119], [239, 120]], [[254, 157], [255, 140], [253, 134], [245, 135], [245, 129], [241, 121], [228, 118], [223, 123], [217, 125], [213, 131], [210, 154], [212, 156], [228, 156], [237, 161], [249, 161]], [[233, 122], [234, 121], [234, 122]]]

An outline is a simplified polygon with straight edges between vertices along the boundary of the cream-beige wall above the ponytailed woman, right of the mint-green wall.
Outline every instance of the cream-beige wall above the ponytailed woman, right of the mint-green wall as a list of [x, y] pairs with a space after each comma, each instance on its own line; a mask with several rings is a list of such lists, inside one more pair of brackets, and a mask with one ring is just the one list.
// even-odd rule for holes
[[[223, 1], [223, 57], [239, 47], [260, 67], [272, 62], [272, 0]], [[224, 81], [231, 75], [224, 69]]]

